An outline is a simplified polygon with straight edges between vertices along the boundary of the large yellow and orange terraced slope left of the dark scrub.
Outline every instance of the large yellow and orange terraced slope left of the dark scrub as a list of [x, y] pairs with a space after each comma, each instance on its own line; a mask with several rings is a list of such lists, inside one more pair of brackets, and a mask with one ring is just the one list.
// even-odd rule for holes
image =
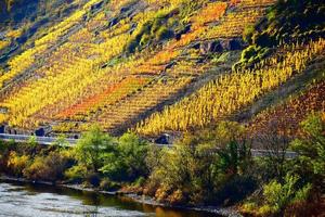
[[[232, 63], [223, 64], [236, 60], [245, 26], [273, 2], [88, 2], [10, 61], [1, 77], [1, 119], [24, 130], [56, 123], [56, 131], [80, 131], [91, 123], [110, 131], [133, 124], [182, 97], [190, 84], [223, 73], [219, 65], [230, 68]], [[133, 78], [147, 82], [136, 90], [121, 84]], [[99, 100], [95, 110], [87, 104], [90, 98]], [[128, 106], [123, 118], [112, 116]]]

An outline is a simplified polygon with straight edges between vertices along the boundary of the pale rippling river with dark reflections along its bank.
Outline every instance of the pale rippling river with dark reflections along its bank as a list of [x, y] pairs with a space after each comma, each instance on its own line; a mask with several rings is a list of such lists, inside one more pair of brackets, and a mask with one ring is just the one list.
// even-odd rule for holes
[[0, 216], [209, 217], [216, 214], [145, 205], [123, 196], [81, 192], [44, 184], [1, 181]]

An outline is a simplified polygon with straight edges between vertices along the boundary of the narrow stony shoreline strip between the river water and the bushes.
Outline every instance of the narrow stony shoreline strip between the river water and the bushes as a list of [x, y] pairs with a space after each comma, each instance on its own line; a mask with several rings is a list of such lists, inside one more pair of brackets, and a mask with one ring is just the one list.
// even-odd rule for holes
[[128, 199], [133, 200], [136, 203], [151, 205], [151, 206], [159, 206], [165, 208], [177, 208], [177, 209], [184, 209], [184, 210], [196, 210], [196, 212], [205, 212], [209, 214], [216, 214], [220, 216], [229, 216], [229, 217], [242, 217], [242, 215], [235, 210], [234, 207], [216, 207], [216, 206], [177, 206], [170, 205], [166, 203], [159, 203], [154, 199], [145, 195], [138, 195], [133, 192], [126, 192], [126, 191], [103, 191], [95, 188], [84, 188], [81, 184], [66, 184], [66, 183], [53, 183], [49, 181], [31, 181], [25, 178], [16, 178], [1, 174], [0, 181], [4, 182], [20, 182], [20, 183], [29, 183], [29, 184], [43, 184], [43, 186], [51, 186], [51, 187], [58, 187], [58, 188], [66, 188], [75, 191], [82, 191], [82, 192], [92, 192], [99, 193], [103, 195], [110, 195], [110, 196], [125, 196]]

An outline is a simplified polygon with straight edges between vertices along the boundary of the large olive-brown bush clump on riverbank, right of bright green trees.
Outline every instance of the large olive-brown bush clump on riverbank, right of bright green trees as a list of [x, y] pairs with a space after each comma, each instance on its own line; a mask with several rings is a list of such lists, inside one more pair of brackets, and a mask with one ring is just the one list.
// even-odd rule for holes
[[[224, 122], [214, 129], [185, 135], [173, 149], [151, 149], [146, 158], [151, 176], [144, 192], [157, 200], [196, 205], [216, 202], [218, 193], [231, 190], [233, 201], [238, 194], [247, 195], [255, 189], [251, 180], [238, 178], [225, 187], [250, 164], [249, 146], [234, 140], [243, 139], [244, 131], [243, 126]], [[211, 154], [216, 148], [219, 151]]]

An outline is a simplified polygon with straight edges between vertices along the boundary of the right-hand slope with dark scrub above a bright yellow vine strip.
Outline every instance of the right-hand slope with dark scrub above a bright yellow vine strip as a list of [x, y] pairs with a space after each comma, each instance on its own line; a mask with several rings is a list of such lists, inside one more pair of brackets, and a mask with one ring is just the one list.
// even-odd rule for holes
[[[304, 89], [312, 79], [322, 82], [325, 54], [323, 11], [320, 1], [278, 1], [265, 17], [246, 27], [244, 39], [249, 46], [233, 66], [235, 74], [221, 77], [196, 94], [154, 114], [140, 124], [136, 131], [151, 136], [204, 128], [225, 118], [248, 120], [273, 103]], [[312, 41], [317, 46], [313, 47]], [[313, 110], [303, 106], [304, 116], [310, 112], [324, 112], [322, 102], [315, 103], [310, 105]], [[287, 120], [296, 119], [294, 113], [285, 115]], [[292, 126], [287, 125], [288, 130], [297, 129], [302, 117], [292, 120]]]

